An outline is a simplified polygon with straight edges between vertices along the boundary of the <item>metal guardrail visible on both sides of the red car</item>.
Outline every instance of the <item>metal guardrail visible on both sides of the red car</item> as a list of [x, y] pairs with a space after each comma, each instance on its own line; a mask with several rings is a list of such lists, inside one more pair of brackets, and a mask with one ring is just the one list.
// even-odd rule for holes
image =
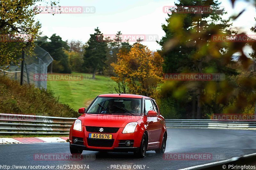
[[[76, 118], [0, 113], [0, 134], [68, 135]], [[256, 120], [165, 120], [170, 128], [250, 129], [256, 130]]]

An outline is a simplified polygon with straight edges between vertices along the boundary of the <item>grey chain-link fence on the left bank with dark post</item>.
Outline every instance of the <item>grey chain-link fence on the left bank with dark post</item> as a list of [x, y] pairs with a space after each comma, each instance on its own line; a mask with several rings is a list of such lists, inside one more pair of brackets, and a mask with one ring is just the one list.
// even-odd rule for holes
[[[25, 55], [23, 83], [34, 84], [38, 88], [47, 88], [46, 79], [38, 79], [36, 76], [47, 75], [47, 67], [52, 63], [52, 56], [43, 48], [36, 45], [33, 55]], [[18, 66], [9, 66], [0, 75], [6, 75], [13, 80], [20, 80], [21, 63]]]

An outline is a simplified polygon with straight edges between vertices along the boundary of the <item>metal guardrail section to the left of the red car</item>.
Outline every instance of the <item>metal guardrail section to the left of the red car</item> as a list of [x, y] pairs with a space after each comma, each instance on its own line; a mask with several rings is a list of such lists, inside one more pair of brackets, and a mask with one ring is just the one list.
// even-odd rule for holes
[[69, 134], [76, 118], [0, 113], [0, 134]]

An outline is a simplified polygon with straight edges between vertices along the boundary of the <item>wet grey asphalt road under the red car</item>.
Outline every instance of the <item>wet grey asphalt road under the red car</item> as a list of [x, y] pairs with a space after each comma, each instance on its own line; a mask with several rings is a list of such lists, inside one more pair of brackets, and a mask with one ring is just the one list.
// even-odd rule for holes
[[[169, 154], [167, 157], [163, 157], [157, 155], [154, 151], [150, 151], [147, 152], [145, 158], [137, 159], [133, 157], [133, 153], [84, 151], [83, 158], [90, 158], [89, 160], [77, 160], [71, 157], [65, 161], [47, 160], [49, 157], [43, 156], [45, 154], [49, 156], [52, 153], [69, 155], [68, 143], [2, 144], [0, 145], [0, 169], [4, 169], [1, 168], [3, 165], [10, 166], [13, 169], [24, 169], [17, 166], [37, 165], [55, 166], [54, 169], [68, 169], [68, 165], [69, 169], [72, 165], [73, 169], [78, 168], [75, 165], [80, 165], [79, 169], [81, 169], [81, 166], [83, 166], [83, 169], [88, 169], [87, 165], [89, 165], [89, 169], [95, 170], [126, 169], [127, 166], [124, 165], [131, 166], [131, 169], [181, 169], [256, 153], [255, 139], [256, 131], [254, 130], [168, 128], [165, 153], [172, 153], [172, 156]], [[210, 154], [211, 157], [208, 160], [202, 159], [202, 157], [200, 160], [191, 160], [191, 157], [189, 160], [173, 160], [175, 154], [177, 156], [177, 154], [184, 153], [190, 156], [195, 156], [198, 153]], [[12, 167], [13, 165], [15, 166]], [[84, 165], [86, 165], [86, 168]]]

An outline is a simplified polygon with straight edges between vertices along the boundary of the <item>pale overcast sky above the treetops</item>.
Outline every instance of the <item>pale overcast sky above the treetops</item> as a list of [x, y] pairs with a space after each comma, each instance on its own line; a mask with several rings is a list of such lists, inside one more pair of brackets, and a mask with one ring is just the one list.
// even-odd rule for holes
[[[48, 1], [48, 0], [46, 0]], [[42, 24], [40, 31], [42, 35], [51, 37], [56, 33], [62, 40], [88, 41], [90, 34], [94, 33], [96, 27], [103, 34], [116, 34], [121, 31], [123, 35], [146, 35], [149, 39], [160, 40], [164, 36], [162, 24], [166, 24], [167, 14], [163, 12], [164, 6], [173, 6], [177, 0], [60, 0], [60, 6], [91, 6], [95, 11], [82, 14], [37, 14], [36, 20]], [[255, 25], [255, 6], [251, 2], [237, 0], [232, 8], [230, 0], [222, 0], [221, 7], [228, 12], [223, 18], [245, 12], [233, 22], [233, 29], [239, 32], [250, 32]], [[161, 47], [155, 40], [144, 41], [149, 49], [156, 51]], [[130, 43], [134, 43], [131, 42]], [[250, 48], [246, 49], [247, 51]]]

